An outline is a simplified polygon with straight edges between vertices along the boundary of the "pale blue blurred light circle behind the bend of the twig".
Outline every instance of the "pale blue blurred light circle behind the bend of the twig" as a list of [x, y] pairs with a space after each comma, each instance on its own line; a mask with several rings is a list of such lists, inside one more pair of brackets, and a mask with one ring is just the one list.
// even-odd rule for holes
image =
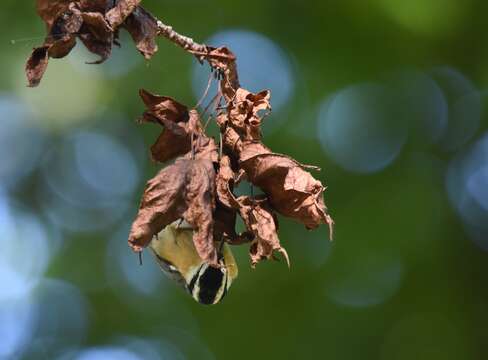
[[[293, 70], [286, 53], [271, 39], [252, 31], [226, 30], [205, 41], [212, 46], [227, 46], [237, 56], [239, 80], [242, 86], [258, 92], [270, 89], [271, 105], [278, 111], [294, 90]], [[193, 89], [199, 99], [208, 83], [209, 70], [196, 63]], [[215, 93], [217, 87], [213, 87]]]

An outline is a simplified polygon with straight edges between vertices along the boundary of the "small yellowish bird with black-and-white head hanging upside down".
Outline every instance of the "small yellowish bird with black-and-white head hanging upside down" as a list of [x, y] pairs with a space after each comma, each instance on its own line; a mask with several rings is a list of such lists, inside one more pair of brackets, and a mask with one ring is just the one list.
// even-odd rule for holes
[[200, 304], [219, 303], [238, 274], [230, 247], [219, 246], [220, 268], [203, 261], [193, 244], [193, 229], [184, 221], [176, 221], [155, 235], [149, 248], [165, 274], [183, 286]]

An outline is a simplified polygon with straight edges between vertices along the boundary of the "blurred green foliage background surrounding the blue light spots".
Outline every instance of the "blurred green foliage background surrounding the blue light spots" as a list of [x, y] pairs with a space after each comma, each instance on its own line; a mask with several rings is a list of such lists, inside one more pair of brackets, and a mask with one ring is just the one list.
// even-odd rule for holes
[[[351, 84], [382, 81], [398, 69], [449, 66], [482, 92], [488, 83], [488, 3], [145, 0], [143, 4], [196, 40], [227, 29], [245, 29], [267, 36], [293, 59], [294, 93], [285, 110], [267, 119], [279, 117], [282, 125], [265, 133], [265, 141], [277, 152], [323, 169], [318, 178], [328, 186], [326, 201], [337, 225], [335, 241], [327, 243], [325, 227], [307, 232], [282, 218], [280, 237], [290, 254], [291, 270], [275, 262], [251, 270], [247, 249], [238, 248], [238, 281], [222, 304], [203, 307], [170, 284], [150, 296], [133, 293], [130, 287], [114, 291], [109, 286], [104, 276], [111, 259], [107, 242], [127, 228], [130, 214], [109, 231], [65, 232], [65, 245], [51, 259], [45, 277], [65, 280], [86, 297], [89, 325], [81, 346], [107, 346], [121, 336], [133, 336], [164, 339], [188, 359], [486, 359], [488, 255], [470, 240], [448, 200], [445, 171], [455, 154], [419, 145], [410, 136], [393, 164], [361, 175], [334, 163], [314, 134], [317, 108], [328, 95]], [[24, 61], [41, 40], [15, 45], [10, 40], [42, 36], [44, 26], [34, 1], [3, 0], [0, 9], [0, 92], [38, 105], [39, 126], [52, 139], [73, 128], [103, 127], [103, 111], [110, 111], [123, 114], [118, 126], [143, 134], [149, 146], [156, 128], [138, 127], [132, 121], [143, 110], [139, 88], [187, 104], [198, 100], [192, 92], [193, 60], [164, 39], [150, 62], [140, 61], [122, 76], [107, 77], [98, 70], [80, 75], [68, 59], [53, 60], [41, 86], [27, 89]], [[48, 105], [43, 107], [44, 102]], [[65, 102], [74, 115], [65, 105], [56, 110], [56, 104]], [[471, 143], [486, 125], [482, 114]], [[10, 156], [15, 152], [12, 149]], [[144, 179], [158, 169], [149, 159], [142, 167], [145, 174], [134, 194], [132, 215]], [[34, 172], [10, 196], [38, 211], [35, 191], [42, 188], [41, 182]], [[126, 246], [125, 241], [120, 236], [120, 247]], [[383, 289], [382, 281], [389, 280], [375, 271], [390, 258], [401, 259], [400, 268], [392, 265], [399, 280], [380, 303], [348, 306], [329, 296], [341, 286], [359, 294], [367, 294], [368, 286]], [[145, 262], [150, 261], [146, 256]], [[134, 272], [138, 269], [134, 258]], [[31, 294], [33, 301], [40, 292], [42, 284]], [[21, 358], [56, 359], [63, 347], [37, 351]]]

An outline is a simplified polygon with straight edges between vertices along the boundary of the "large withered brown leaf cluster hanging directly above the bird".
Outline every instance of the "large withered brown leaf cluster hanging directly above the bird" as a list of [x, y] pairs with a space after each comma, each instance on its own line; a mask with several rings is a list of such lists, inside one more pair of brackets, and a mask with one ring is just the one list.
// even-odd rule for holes
[[[143, 122], [163, 126], [151, 147], [157, 162], [174, 160], [152, 179], [144, 192], [129, 236], [135, 251], [152, 236], [183, 218], [196, 229], [194, 242], [200, 256], [218, 266], [219, 241], [250, 243], [251, 263], [288, 254], [278, 238], [277, 213], [303, 223], [307, 229], [333, 221], [323, 200], [324, 186], [294, 159], [272, 152], [261, 141], [263, 118], [271, 111], [269, 91], [253, 94], [240, 87], [234, 55], [227, 48], [207, 48], [196, 54], [219, 74], [219, 94], [225, 106], [216, 114], [219, 149], [206, 136], [197, 110], [176, 100], [141, 90], [147, 107]], [[241, 181], [259, 187], [264, 195], [234, 195]], [[237, 234], [240, 216], [246, 231]]]

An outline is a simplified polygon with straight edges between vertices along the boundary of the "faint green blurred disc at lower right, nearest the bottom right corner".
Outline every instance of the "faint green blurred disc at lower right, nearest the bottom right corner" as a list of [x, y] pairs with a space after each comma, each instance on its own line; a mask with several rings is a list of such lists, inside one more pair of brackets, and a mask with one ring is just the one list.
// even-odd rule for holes
[[405, 268], [391, 254], [361, 254], [331, 270], [326, 296], [334, 303], [363, 308], [388, 301], [400, 289]]

